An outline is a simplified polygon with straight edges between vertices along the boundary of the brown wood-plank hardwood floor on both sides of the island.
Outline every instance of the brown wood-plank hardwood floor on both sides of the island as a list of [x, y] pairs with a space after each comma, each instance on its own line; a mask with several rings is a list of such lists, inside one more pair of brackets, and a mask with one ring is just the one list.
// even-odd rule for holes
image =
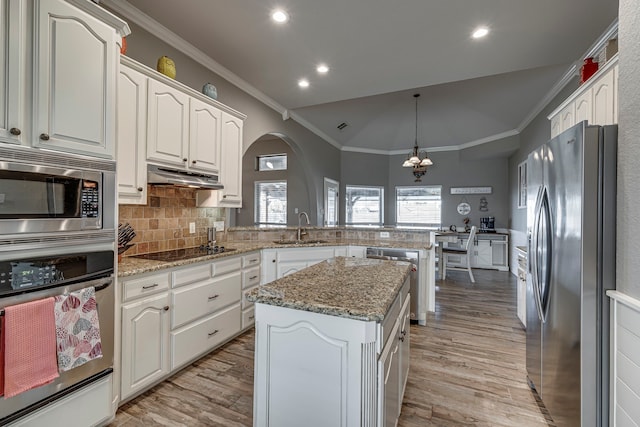
[[[474, 270], [436, 282], [436, 312], [411, 326], [399, 427], [553, 426], [527, 385], [515, 276]], [[124, 404], [110, 427], [251, 426], [253, 331]]]

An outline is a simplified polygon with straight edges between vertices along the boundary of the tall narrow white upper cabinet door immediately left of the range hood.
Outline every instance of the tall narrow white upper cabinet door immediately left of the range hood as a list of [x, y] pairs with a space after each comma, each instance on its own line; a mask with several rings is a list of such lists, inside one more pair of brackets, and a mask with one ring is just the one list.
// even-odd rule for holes
[[147, 204], [147, 77], [126, 66], [118, 81], [118, 203]]

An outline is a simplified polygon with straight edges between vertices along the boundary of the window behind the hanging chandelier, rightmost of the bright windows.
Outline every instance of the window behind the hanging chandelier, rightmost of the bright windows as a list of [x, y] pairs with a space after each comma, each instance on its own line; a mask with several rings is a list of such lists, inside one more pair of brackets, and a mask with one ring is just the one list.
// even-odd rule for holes
[[440, 228], [442, 187], [396, 187], [398, 227]]

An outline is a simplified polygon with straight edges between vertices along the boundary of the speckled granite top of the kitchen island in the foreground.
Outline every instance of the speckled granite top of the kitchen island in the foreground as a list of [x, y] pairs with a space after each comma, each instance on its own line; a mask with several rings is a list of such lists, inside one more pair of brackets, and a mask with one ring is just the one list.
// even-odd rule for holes
[[249, 301], [356, 320], [384, 319], [411, 264], [336, 257], [247, 292]]

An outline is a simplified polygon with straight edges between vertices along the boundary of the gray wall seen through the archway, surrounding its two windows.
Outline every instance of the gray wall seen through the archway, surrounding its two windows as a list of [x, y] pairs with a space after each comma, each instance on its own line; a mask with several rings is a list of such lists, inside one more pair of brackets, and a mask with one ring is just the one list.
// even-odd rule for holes
[[[265, 154], [286, 154], [287, 170], [257, 171], [256, 157]], [[258, 139], [242, 158], [242, 209], [236, 210], [236, 225], [254, 225], [254, 183], [256, 181], [287, 181], [287, 224], [298, 225], [299, 212], [309, 213], [311, 203], [307, 191], [306, 176], [302, 163], [289, 144], [282, 139]]]

